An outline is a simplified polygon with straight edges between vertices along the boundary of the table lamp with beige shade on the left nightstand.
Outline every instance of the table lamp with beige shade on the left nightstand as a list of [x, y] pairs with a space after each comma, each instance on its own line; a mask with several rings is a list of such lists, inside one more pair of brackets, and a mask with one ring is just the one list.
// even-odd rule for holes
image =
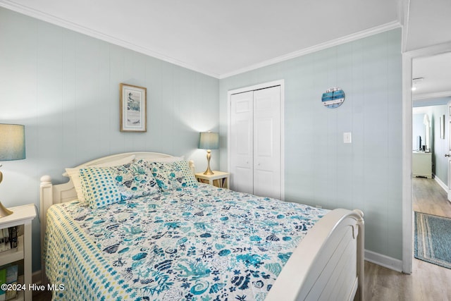
[[[0, 123], [0, 162], [21, 159], [25, 159], [25, 126]], [[0, 171], [0, 183], [1, 180], [3, 174]], [[0, 218], [12, 213], [0, 202]]]

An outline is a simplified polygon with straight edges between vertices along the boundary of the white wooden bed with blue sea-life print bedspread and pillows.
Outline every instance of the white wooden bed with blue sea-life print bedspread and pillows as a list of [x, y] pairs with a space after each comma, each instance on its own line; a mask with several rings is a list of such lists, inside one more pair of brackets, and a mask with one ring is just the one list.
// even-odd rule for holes
[[66, 176], [40, 185], [53, 300], [364, 300], [362, 211], [197, 183], [192, 161], [154, 152]]

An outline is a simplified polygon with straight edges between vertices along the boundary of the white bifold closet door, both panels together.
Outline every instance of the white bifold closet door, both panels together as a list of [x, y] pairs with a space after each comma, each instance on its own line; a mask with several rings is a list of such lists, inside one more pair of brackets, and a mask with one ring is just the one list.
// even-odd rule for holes
[[280, 86], [230, 100], [231, 188], [280, 199]]

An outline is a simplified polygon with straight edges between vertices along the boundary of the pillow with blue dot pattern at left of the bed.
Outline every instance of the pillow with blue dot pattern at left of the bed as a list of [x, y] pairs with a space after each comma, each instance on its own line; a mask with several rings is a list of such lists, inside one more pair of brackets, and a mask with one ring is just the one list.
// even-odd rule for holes
[[86, 167], [80, 169], [82, 192], [91, 208], [121, 202], [121, 194], [111, 173], [111, 168]]

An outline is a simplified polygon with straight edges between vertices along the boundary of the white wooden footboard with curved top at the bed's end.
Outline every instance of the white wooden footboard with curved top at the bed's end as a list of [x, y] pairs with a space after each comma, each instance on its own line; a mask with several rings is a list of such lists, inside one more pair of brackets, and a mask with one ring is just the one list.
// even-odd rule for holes
[[266, 300], [364, 300], [364, 220], [335, 209], [307, 233]]

